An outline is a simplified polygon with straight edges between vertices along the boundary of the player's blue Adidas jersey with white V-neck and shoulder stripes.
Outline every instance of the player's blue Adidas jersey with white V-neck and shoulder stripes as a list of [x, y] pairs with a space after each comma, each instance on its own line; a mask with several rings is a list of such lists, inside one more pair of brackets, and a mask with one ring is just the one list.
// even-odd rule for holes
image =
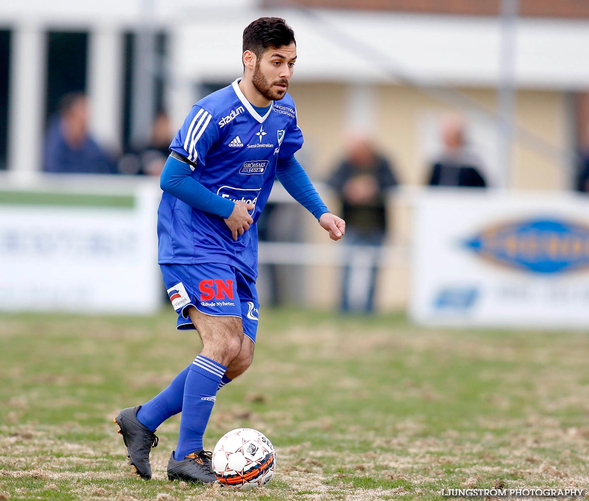
[[260, 116], [233, 84], [201, 99], [170, 145], [193, 162], [192, 177], [220, 197], [255, 205], [254, 224], [233, 240], [223, 218], [164, 192], [158, 208], [158, 263], [222, 263], [257, 277], [256, 221], [270, 195], [279, 158], [303, 144], [294, 101], [286, 94]]

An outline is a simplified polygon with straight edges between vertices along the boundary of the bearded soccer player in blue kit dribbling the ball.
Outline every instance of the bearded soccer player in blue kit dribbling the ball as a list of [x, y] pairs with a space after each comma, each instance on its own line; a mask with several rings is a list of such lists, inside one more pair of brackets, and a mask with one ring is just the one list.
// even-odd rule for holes
[[168, 478], [215, 482], [203, 434], [217, 390], [252, 363], [259, 316], [256, 221], [277, 177], [329, 231], [344, 221], [323, 204], [294, 158], [303, 144], [286, 93], [296, 60], [292, 29], [260, 18], [243, 32], [243, 77], [198, 101], [170, 145], [161, 173], [158, 262], [177, 329], [195, 329], [203, 349], [170, 386], [143, 405], [121, 410], [129, 463], [151, 478], [155, 429], [182, 412]]

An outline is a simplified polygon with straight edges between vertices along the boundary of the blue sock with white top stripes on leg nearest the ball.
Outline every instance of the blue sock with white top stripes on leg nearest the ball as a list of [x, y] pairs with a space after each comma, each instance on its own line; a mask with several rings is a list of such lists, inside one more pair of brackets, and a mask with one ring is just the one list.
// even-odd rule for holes
[[180, 461], [203, 449], [203, 435], [213, 411], [215, 396], [227, 367], [198, 355], [189, 366], [184, 383], [180, 436], [174, 459]]

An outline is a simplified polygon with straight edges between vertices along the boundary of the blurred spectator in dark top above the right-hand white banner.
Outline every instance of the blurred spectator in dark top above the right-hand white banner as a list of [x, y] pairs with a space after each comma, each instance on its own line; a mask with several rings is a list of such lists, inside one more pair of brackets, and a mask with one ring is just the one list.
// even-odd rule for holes
[[444, 150], [431, 162], [430, 186], [487, 186], [479, 169], [481, 160], [466, 146], [465, 124], [461, 118], [446, 118], [442, 122], [441, 140]]

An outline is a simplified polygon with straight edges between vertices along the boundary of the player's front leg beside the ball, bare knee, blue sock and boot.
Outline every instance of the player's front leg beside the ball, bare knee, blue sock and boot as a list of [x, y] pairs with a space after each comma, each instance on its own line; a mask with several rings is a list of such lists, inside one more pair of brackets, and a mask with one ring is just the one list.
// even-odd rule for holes
[[203, 349], [188, 370], [178, 445], [168, 462], [168, 478], [210, 483], [216, 480], [203, 435], [227, 366], [236, 359], [243, 342], [241, 318], [213, 316], [192, 307], [190, 320], [200, 334]]

